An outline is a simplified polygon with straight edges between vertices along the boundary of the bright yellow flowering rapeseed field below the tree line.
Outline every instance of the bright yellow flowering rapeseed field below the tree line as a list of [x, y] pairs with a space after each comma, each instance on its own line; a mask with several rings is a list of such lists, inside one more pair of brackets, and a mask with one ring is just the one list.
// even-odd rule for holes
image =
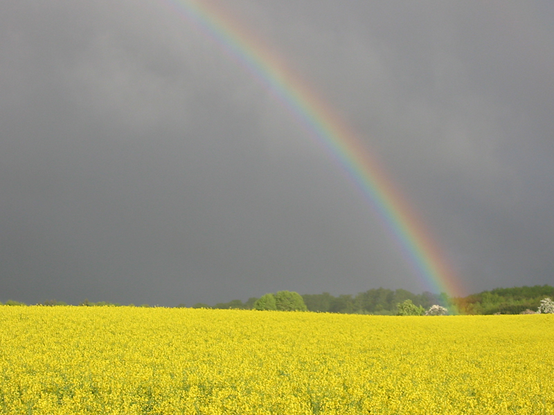
[[1, 414], [554, 414], [554, 315], [0, 306]]

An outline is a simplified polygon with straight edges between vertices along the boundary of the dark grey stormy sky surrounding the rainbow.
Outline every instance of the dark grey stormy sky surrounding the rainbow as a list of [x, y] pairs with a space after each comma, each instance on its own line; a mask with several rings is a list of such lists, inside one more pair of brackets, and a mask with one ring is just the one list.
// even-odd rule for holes
[[[208, 3], [357, 132], [452, 294], [554, 284], [554, 3]], [[0, 301], [379, 287], [434, 288], [294, 114], [168, 1], [3, 6]]]

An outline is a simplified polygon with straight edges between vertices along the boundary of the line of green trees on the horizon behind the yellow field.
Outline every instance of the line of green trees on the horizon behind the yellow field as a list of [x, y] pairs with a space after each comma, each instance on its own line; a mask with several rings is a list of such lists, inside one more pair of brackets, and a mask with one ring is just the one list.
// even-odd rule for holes
[[[522, 286], [514, 288], [495, 288], [482, 291], [467, 297], [449, 297], [445, 293], [424, 292], [413, 294], [403, 289], [371, 288], [357, 295], [343, 294], [334, 296], [330, 293], [299, 295], [294, 291], [267, 293], [262, 297], [250, 297], [246, 302], [233, 299], [230, 302], [217, 303], [213, 306], [197, 303], [192, 308], [218, 308], [242, 310], [285, 310], [314, 311], [319, 313], [402, 315], [402, 313], [422, 314], [432, 306], [447, 308], [452, 314], [520, 314], [537, 311], [545, 297], [554, 298], [554, 287]], [[1, 305], [2, 303], [0, 303]], [[24, 306], [26, 304], [8, 300], [6, 305]], [[64, 306], [65, 302], [47, 300], [43, 306]], [[79, 306], [121, 306], [118, 303], [89, 302], [85, 299]], [[134, 306], [134, 304], [128, 304]], [[141, 307], [149, 307], [142, 304]], [[177, 307], [187, 307], [179, 304]]]

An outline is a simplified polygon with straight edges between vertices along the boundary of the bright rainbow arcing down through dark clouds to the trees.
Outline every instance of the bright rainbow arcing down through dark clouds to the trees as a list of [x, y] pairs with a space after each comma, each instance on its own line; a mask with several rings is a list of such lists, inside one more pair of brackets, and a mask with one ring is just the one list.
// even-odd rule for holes
[[304, 80], [208, 0], [160, 0], [274, 95], [364, 194], [429, 291], [461, 296], [458, 278], [378, 160]]

